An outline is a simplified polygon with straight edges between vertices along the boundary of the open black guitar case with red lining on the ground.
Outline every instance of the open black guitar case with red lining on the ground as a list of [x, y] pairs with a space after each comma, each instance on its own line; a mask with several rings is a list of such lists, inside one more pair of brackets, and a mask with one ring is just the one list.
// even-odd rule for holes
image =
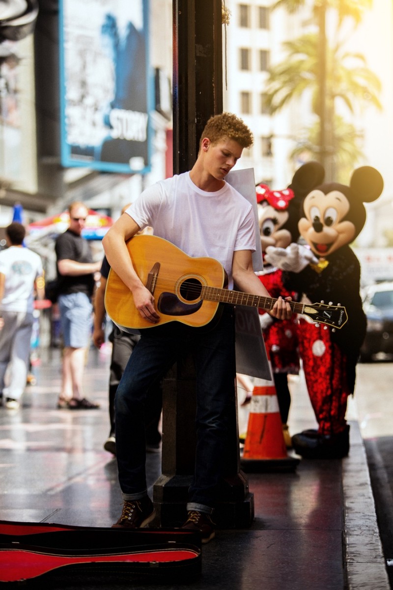
[[[201, 572], [200, 532], [111, 529], [0, 520], [0, 585], [89, 580], [94, 587]], [[14, 584], [13, 584], [14, 583]], [[18, 584], [19, 585], [19, 584]]]

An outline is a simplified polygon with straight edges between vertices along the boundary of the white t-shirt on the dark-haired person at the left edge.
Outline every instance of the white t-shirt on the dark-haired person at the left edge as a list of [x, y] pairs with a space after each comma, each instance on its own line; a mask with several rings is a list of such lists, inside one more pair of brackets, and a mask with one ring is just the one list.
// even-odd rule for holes
[[2, 312], [33, 311], [34, 281], [42, 275], [42, 261], [28, 248], [11, 246], [0, 252], [0, 273], [5, 275]]

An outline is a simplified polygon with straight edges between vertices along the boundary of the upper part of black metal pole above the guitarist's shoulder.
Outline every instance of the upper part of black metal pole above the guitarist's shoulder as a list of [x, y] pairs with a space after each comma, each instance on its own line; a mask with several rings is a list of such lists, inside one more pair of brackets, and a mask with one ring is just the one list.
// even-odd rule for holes
[[173, 0], [173, 173], [190, 170], [222, 113], [222, 0]]

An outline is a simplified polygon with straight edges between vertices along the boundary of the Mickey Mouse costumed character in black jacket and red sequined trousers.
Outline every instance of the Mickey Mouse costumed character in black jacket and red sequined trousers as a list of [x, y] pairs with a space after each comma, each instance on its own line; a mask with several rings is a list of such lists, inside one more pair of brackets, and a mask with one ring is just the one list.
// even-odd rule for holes
[[318, 430], [292, 437], [296, 453], [306, 458], [341, 458], [349, 452], [349, 425], [345, 420], [348, 396], [355, 387], [356, 363], [365, 337], [360, 264], [349, 244], [366, 220], [364, 202], [382, 193], [381, 174], [371, 166], [352, 173], [349, 186], [336, 182], [313, 188], [306, 195], [299, 232], [315, 259], [302, 261], [305, 246], [286, 250], [268, 248], [266, 259], [283, 268], [283, 284], [302, 300], [327, 301], [346, 307], [348, 322], [338, 331], [301, 317], [299, 352]]

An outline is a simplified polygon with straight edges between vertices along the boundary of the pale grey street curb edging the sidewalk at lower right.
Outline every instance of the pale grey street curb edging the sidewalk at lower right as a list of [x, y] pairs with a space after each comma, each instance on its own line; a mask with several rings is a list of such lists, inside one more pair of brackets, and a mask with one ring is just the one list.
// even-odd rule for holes
[[348, 457], [342, 460], [348, 590], [390, 590], [366, 451], [358, 422], [349, 424], [351, 445]]

